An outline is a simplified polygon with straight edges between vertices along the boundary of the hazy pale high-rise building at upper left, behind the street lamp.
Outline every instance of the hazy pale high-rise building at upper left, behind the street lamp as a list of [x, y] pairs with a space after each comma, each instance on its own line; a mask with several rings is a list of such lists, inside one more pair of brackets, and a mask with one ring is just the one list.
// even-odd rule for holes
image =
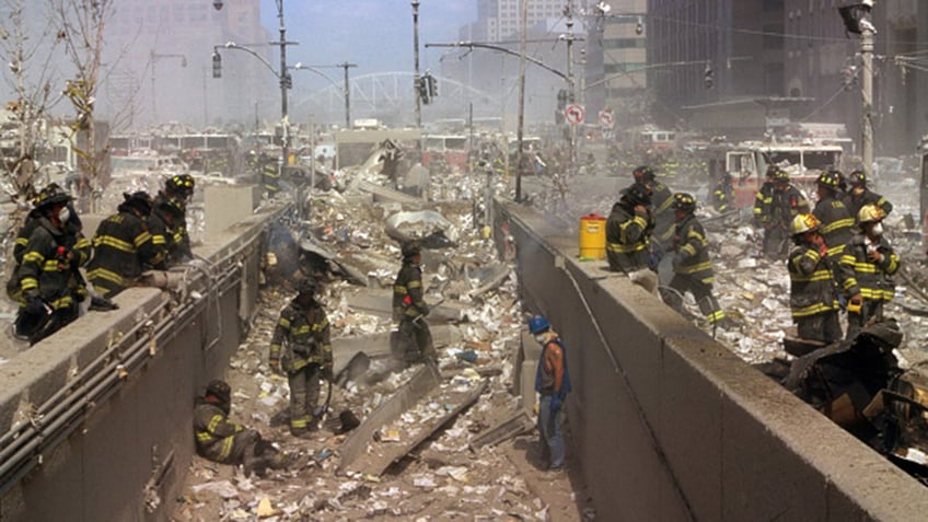
[[[271, 38], [260, 24], [260, 2], [223, 3], [218, 11], [207, 0], [116, 2], [106, 25], [112, 81], [102, 93], [111, 118], [129, 114], [126, 123], [136, 129], [167, 121], [253, 125], [256, 113], [279, 118], [275, 76], [247, 53], [221, 47], [228, 42], [253, 46], [276, 62], [277, 48], [267, 44]], [[220, 46], [221, 78], [212, 73], [214, 46]]]

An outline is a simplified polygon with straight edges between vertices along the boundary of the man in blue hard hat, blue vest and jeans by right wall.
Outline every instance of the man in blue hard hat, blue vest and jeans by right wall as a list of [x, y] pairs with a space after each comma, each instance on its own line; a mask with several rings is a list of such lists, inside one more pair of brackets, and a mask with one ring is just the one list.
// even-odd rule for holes
[[542, 345], [538, 368], [535, 371], [535, 391], [541, 395], [538, 404], [538, 432], [542, 457], [549, 463], [548, 469], [564, 467], [564, 437], [560, 434], [561, 406], [570, 393], [570, 374], [567, 372], [567, 353], [560, 336], [550, 327], [548, 320], [536, 315], [529, 320], [529, 332]]

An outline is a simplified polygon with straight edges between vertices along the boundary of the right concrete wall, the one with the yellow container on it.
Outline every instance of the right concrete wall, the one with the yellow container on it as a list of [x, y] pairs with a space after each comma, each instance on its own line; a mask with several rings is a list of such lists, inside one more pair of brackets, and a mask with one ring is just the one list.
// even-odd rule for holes
[[[913, 520], [928, 490], [578, 241], [497, 205], [568, 350], [573, 457], [607, 520]], [[599, 333], [602, 333], [602, 337]]]

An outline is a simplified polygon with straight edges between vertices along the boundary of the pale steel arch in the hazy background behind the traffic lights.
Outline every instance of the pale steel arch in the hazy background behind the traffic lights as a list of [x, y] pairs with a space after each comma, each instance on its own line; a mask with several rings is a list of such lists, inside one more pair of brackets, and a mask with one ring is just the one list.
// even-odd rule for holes
[[[431, 104], [424, 105], [424, 112], [429, 111], [437, 115], [466, 114], [471, 103], [474, 104], [475, 111], [495, 114], [501, 112], [503, 101], [499, 95], [490, 95], [450, 78], [432, 76], [438, 80], [439, 95]], [[403, 71], [372, 72], [351, 78], [352, 117], [411, 114], [415, 101], [413, 78], [411, 72]], [[312, 107], [326, 115], [341, 114], [344, 117], [344, 88], [326, 85], [293, 105], [298, 111]]]

